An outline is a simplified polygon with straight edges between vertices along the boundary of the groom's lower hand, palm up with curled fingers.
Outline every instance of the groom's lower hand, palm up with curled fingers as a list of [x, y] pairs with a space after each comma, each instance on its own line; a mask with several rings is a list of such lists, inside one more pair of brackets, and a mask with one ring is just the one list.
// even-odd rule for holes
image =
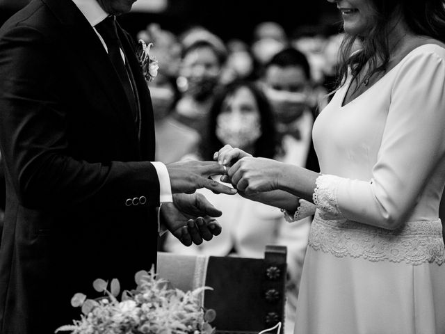
[[161, 206], [161, 222], [185, 246], [202, 244], [220, 234], [221, 226], [213, 218], [220, 215], [201, 193], [175, 194], [172, 203]]

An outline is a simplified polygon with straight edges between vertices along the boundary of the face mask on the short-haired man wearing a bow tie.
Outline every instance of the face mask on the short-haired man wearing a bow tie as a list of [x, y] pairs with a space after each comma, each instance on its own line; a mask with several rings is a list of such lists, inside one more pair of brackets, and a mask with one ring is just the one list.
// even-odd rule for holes
[[266, 88], [266, 96], [273, 106], [277, 122], [289, 124], [295, 122], [307, 109], [311, 109], [312, 102], [306, 94], [292, 93], [284, 90]]

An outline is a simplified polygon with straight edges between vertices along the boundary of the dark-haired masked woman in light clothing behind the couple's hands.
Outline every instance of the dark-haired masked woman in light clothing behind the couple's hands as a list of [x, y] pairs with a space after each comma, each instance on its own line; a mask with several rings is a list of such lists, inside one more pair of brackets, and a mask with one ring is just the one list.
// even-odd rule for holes
[[[218, 92], [209, 114], [209, 129], [197, 154], [191, 159], [213, 159], [221, 145], [230, 143], [260, 157], [275, 157], [277, 144], [270, 104], [255, 84], [235, 81]], [[293, 333], [296, 294], [302, 271], [302, 261], [307, 246], [310, 220], [295, 225], [287, 223], [280, 210], [252, 202], [241, 196], [213, 196], [202, 192], [213, 205], [223, 211], [218, 218], [223, 230], [217, 239], [199, 246], [184, 247], [167, 236], [164, 249], [188, 255], [217, 255], [264, 257], [268, 244], [288, 248], [289, 282], [286, 303], [286, 333]]]

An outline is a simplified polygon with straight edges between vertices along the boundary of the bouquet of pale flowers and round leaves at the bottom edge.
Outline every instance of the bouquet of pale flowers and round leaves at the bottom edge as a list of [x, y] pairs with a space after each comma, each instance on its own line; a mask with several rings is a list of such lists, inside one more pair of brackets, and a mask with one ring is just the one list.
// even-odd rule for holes
[[154, 268], [135, 275], [137, 287], [122, 292], [118, 301], [120, 283], [97, 279], [93, 287], [104, 292], [104, 297], [87, 299], [85, 294], [74, 294], [71, 304], [81, 307], [83, 315], [72, 325], [56, 330], [72, 334], [213, 334], [209, 322], [216, 317], [214, 310], [204, 310], [199, 296], [205, 289], [183, 292], [171, 287], [167, 280], [156, 278]]

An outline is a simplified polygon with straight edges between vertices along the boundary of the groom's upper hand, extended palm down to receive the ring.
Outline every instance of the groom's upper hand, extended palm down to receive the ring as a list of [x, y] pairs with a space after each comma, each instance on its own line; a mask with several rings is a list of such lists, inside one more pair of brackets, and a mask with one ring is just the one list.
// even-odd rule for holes
[[172, 193], [194, 193], [200, 188], [210, 189], [213, 193], [236, 193], [236, 189], [211, 180], [211, 176], [223, 175], [227, 170], [216, 161], [179, 161], [168, 164], [167, 170]]

